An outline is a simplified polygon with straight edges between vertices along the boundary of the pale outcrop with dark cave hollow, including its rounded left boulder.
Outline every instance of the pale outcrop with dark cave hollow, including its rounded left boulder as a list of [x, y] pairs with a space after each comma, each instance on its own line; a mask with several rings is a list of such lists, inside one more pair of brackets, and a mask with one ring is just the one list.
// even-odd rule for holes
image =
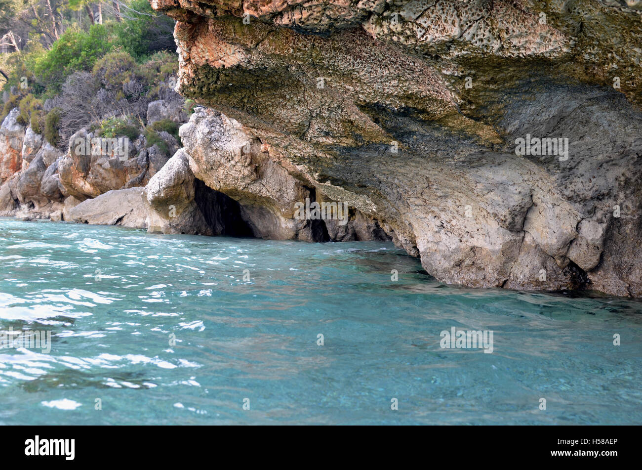
[[[268, 146], [248, 135], [234, 119], [196, 108], [179, 132], [181, 140], [188, 143], [186, 148], [179, 150], [147, 186], [148, 200], [157, 212], [150, 216], [150, 230], [206, 234], [204, 227], [209, 227], [213, 234], [268, 239], [388, 239], [376, 220], [354, 209], [327, 220], [296, 218], [293, 207], [297, 202], [323, 202], [324, 198], [316, 198], [313, 188], [291, 175], [290, 171], [296, 171], [293, 166], [288, 170], [287, 162], [277, 161]], [[209, 196], [216, 198], [213, 204], [205, 202], [204, 189], [215, 190], [216, 196]], [[336, 207], [336, 201], [326, 202]], [[169, 207], [173, 208], [171, 217]], [[208, 211], [206, 207], [216, 209]], [[208, 213], [227, 214], [228, 220], [204, 225]], [[234, 220], [229, 220], [232, 214]]]

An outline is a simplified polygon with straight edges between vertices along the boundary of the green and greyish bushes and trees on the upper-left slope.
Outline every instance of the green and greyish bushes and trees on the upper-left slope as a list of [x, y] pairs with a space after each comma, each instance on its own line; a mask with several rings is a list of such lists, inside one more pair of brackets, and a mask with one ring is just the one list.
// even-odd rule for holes
[[[151, 101], [182, 100], [173, 91], [175, 22], [153, 11], [148, 0], [125, 0], [121, 12], [103, 2], [103, 24], [93, 24], [99, 22], [95, 5], [90, 0], [0, 0], [0, 36], [13, 31], [21, 49], [0, 54], [6, 100], [1, 119], [18, 108], [17, 120], [31, 123], [55, 146], [64, 146], [87, 126], [98, 135], [134, 140]], [[3, 12], [17, 16], [3, 21]], [[168, 146], [159, 132], [178, 139], [178, 125], [169, 120], [143, 132], [163, 152]]]

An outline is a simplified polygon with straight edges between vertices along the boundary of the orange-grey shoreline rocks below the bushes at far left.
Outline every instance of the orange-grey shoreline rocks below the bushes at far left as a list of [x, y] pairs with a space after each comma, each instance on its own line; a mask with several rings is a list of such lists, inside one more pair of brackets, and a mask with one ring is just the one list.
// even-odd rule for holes
[[[174, 101], [153, 101], [148, 119], [186, 121], [185, 112]], [[162, 115], [154, 114], [162, 109]], [[35, 134], [31, 126], [17, 123], [18, 109], [13, 109], [0, 126], [0, 216], [83, 223], [115, 223], [146, 228], [149, 205], [133, 198], [128, 189], [143, 187], [177, 152], [178, 141], [167, 132], [158, 132], [159, 140], [150, 144], [144, 135], [125, 143], [119, 136], [115, 146], [103, 148], [96, 134], [80, 129], [69, 140], [67, 151], [60, 151]], [[109, 197], [98, 196], [112, 191]], [[96, 200], [71, 209], [84, 200]], [[135, 202], [129, 207], [126, 204]], [[114, 207], [101, 208], [101, 204]], [[117, 204], [125, 204], [115, 207]], [[142, 209], [141, 209], [142, 208]], [[95, 214], [91, 214], [96, 211]], [[115, 212], [114, 212], [115, 211]], [[111, 214], [111, 215], [110, 215]], [[116, 218], [114, 214], [119, 214]]]

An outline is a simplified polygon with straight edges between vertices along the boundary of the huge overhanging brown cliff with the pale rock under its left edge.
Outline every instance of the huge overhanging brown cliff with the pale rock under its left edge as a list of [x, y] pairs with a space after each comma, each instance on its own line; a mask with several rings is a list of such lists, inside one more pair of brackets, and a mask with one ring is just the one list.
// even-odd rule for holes
[[181, 129], [189, 167], [255, 232], [305, 238], [293, 202], [327, 198], [442, 281], [642, 295], [642, 3], [151, 3], [217, 110]]

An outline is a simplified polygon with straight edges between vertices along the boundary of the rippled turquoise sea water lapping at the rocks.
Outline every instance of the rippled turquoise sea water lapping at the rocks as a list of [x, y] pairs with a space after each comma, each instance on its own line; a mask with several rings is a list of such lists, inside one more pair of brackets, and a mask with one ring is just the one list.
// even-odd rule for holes
[[51, 331], [0, 349], [0, 424], [642, 423], [632, 300], [446, 286], [390, 243], [12, 219], [0, 262], [0, 331]]

